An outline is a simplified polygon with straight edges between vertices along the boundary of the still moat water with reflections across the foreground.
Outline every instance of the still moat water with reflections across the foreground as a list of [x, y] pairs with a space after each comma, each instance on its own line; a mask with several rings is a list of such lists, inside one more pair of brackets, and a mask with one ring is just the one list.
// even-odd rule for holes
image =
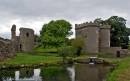
[[0, 81], [106, 81], [111, 67], [106, 65], [75, 64], [0, 70]]

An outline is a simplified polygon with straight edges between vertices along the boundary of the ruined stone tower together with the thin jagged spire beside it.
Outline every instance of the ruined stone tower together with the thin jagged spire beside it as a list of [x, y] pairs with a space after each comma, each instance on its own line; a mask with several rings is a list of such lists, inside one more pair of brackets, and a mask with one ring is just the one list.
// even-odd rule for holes
[[16, 36], [16, 25], [11, 29], [11, 40], [17, 52], [31, 52], [34, 47], [34, 31], [29, 28], [20, 28], [19, 36]]

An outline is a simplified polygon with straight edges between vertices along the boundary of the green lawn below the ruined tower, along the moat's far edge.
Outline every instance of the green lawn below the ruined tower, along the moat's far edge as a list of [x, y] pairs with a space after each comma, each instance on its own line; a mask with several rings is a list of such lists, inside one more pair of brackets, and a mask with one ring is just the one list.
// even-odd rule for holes
[[0, 64], [37, 64], [37, 63], [57, 63], [62, 58], [57, 55], [32, 55], [27, 53], [18, 53], [15, 57], [9, 58]]

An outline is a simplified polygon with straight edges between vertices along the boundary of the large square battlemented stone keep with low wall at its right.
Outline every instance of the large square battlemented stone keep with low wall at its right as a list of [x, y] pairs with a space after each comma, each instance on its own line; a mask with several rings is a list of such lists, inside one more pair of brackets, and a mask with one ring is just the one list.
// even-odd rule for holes
[[116, 53], [121, 47], [110, 47], [110, 25], [100, 25], [94, 22], [75, 24], [76, 37], [84, 39], [84, 52]]

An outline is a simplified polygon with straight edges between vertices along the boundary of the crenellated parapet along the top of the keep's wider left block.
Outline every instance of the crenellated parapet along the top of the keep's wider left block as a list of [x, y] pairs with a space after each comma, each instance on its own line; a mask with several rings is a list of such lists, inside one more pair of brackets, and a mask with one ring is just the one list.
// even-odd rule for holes
[[85, 22], [85, 23], [81, 23], [81, 24], [75, 24], [75, 28], [76, 29], [80, 29], [80, 28], [85, 28], [85, 27], [99, 27], [100, 25], [98, 23], [95, 22]]

